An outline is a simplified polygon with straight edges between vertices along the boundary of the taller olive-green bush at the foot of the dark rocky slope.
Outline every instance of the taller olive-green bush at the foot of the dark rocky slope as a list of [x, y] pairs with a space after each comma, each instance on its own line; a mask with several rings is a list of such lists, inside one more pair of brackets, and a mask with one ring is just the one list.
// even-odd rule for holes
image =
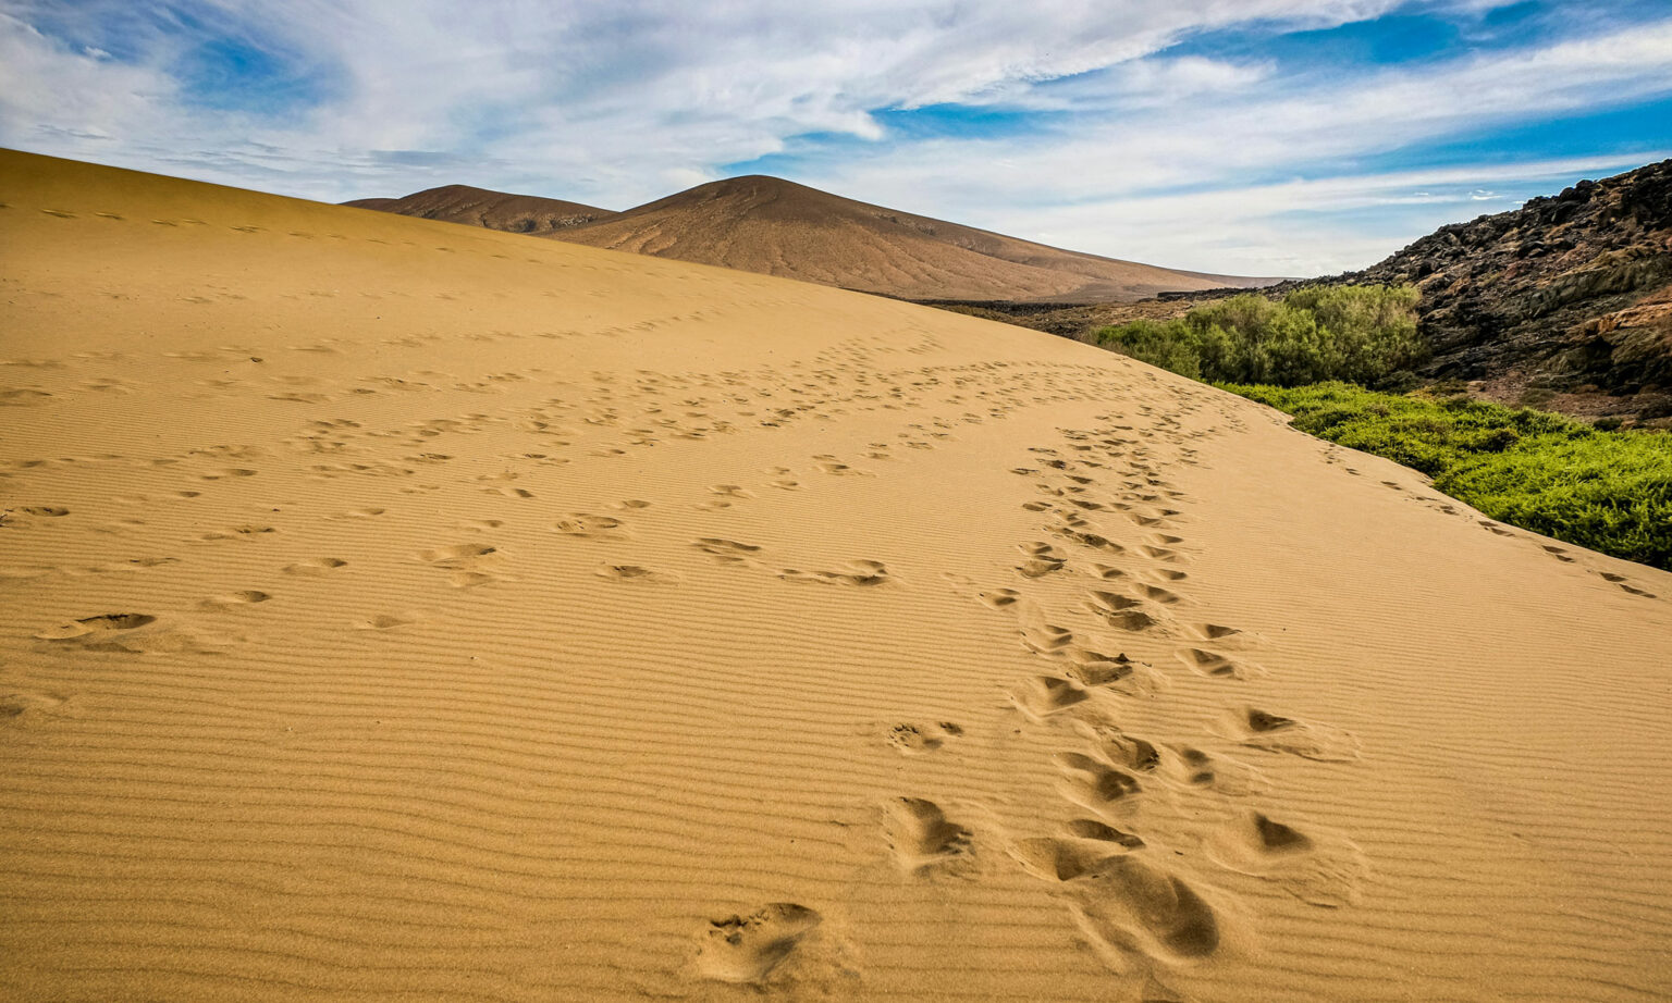
[[1165, 323], [1102, 328], [1093, 339], [1195, 379], [1374, 384], [1423, 358], [1416, 296], [1411, 286], [1308, 286], [1281, 303], [1246, 293]]

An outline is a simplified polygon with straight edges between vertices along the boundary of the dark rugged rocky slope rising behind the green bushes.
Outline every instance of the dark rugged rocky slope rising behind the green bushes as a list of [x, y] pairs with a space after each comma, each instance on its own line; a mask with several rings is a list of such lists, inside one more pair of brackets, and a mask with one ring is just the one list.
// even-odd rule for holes
[[1333, 283], [1416, 283], [1425, 374], [1582, 415], [1672, 418], [1672, 160], [1443, 226]]

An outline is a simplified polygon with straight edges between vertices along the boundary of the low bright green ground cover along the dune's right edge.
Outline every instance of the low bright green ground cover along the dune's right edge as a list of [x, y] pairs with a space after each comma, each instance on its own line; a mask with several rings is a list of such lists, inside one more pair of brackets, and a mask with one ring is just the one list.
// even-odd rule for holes
[[1224, 389], [1287, 411], [1302, 431], [1420, 470], [1495, 520], [1672, 570], [1669, 433], [1344, 383]]

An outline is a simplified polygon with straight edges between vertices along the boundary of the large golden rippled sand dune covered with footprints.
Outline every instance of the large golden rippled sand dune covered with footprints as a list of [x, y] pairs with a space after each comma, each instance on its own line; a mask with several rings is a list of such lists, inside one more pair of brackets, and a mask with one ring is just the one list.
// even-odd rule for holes
[[7, 1000], [1672, 995], [1672, 575], [1018, 328], [0, 186]]

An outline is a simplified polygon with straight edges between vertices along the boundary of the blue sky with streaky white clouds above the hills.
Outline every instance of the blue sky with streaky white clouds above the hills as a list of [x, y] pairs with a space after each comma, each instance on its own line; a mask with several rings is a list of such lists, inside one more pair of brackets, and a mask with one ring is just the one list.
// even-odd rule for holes
[[333, 202], [774, 174], [1319, 276], [1672, 157], [1672, 2], [0, 0], [0, 145]]

